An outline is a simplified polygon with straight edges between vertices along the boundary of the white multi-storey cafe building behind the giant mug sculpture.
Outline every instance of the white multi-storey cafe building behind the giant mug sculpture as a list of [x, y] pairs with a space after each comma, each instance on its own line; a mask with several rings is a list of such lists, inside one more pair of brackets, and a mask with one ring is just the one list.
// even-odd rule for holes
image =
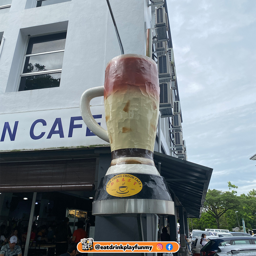
[[[175, 161], [177, 170], [181, 165], [187, 166], [191, 175], [188, 171], [174, 174], [178, 188], [177, 182], [184, 177], [187, 183], [189, 179], [200, 179], [198, 209], [186, 208], [189, 204], [183, 204], [182, 194], [189, 190], [176, 191], [176, 185], [169, 180], [175, 194], [173, 200], [180, 204], [176, 205], [184, 207], [190, 216], [199, 217], [212, 169], [184, 161], [186, 148], [172, 41], [170, 30], [166, 30], [167, 15], [157, 13], [166, 20], [158, 21], [155, 29], [155, 9], [160, 7], [162, 12], [161, 7], [165, 7], [167, 13], [166, 3], [156, 5], [148, 0], [110, 3], [125, 54], [147, 54], [149, 28], [153, 28], [149, 33], [153, 34], [153, 40], [158, 38], [157, 44], [153, 44], [155, 61], [160, 58], [159, 64], [165, 58], [159, 56], [169, 54], [166, 62], [169, 71], [168, 68], [166, 72], [159, 71], [162, 96], [168, 102], [160, 105], [162, 147], [160, 153], [155, 153], [155, 163], [166, 170], [170, 168], [168, 161]], [[94, 197], [94, 188], [109, 166], [110, 147], [87, 129], [81, 119], [79, 101], [84, 90], [104, 84], [106, 64], [121, 54], [107, 3], [105, 0], [2, 0], [1, 5], [0, 146], [1, 192], [4, 192], [1, 222], [14, 218], [27, 225], [33, 193], [38, 203], [33, 220], [39, 216], [38, 225], [65, 217], [67, 208], [86, 211], [87, 217], [93, 218], [89, 197]], [[152, 38], [148, 40], [151, 46]], [[169, 90], [167, 94], [164, 86]], [[91, 101], [91, 111], [95, 120], [106, 128], [103, 97]], [[157, 133], [156, 152], [158, 148]], [[168, 158], [166, 163], [164, 157]], [[198, 168], [204, 171], [197, 173]], [[161, 175], [165, 176], [165, 172]], [[28, 198], [26, 204], [24, 197]], [[67, 216], [72, 217], [70, 212]]]

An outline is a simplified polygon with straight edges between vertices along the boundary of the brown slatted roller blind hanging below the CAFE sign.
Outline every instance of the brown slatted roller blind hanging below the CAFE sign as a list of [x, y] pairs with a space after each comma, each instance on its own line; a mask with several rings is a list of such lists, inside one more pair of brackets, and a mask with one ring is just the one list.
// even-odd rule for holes
[[94, 190], [96, 158], [0, 164], [1, 192]]

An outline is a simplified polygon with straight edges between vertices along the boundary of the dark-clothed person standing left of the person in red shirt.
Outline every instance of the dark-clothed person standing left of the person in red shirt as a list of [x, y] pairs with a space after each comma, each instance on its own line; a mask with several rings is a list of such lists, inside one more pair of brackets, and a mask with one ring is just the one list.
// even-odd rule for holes
[[68, 242], [72, 235], [68, 223], [69, 218], [66, 217], [64, 221], [56, 228], [56, 255], [66, 253], [68, 249]]

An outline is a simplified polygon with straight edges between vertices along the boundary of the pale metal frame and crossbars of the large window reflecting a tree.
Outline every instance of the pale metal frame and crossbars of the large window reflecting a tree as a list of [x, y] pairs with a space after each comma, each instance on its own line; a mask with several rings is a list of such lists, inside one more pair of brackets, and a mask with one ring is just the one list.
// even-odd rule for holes
[[[29, 77], [29, 76], [36, 76], [36, 75], [43, 75], [43, 74], [55, 74], [55, 73], [62, 73], [62, 67], [59, 69], [49, 69], [49, 70], [42, 70], [42, 71], [35, 71], [35, 72], [27, 72], [27, 73], [23, 73], [24, 68], [25, 68], [25, 63], [26, 63], [26, 58], [27, 57], [31, 57], [31, 56], [39, 56], [39, 55], [46, 55], [46, 54], [51, 54], [51, 53], [56, 53], [56, 52], [65, 52], [65, 46], [66, 46], [66, 42], [65, 42], [65, 46], [64, 49], [62, 50], [53, 50], [53, 51], [45, 51], [45, 52], [38, 52], [38, 53], [31, 53], [31, 54], [26, 54], [28, 51], [28, 47], [29, 47], [29, 43], [30, 43], [30, 39], [31, 38], [38, 38], [38, 37], [43, 37], [43, 36], [51, 36], [51, 35], [58, 35], [58, 34], [62, 34], [62, 33], [66, 33], [66, 37], [67, 38], [67, 31], [60, 31], [60, 32], [55, 32], [55, 33], [49, 33], [49, 34], [43, 34], [43, 35], [36, 35], [36, 36], [29, 36], [28, 40], [27, 40], [27, 45], [25, 48], [25, 54], [23, 57], [23, 61], [22, 61], [22, 66], [21, 66], [21, 71], [19, 74], [19, 83], [18, 83], [18, 90], [17, 91], [25, 91], [25, 90], [20, 90], [20, 83], [21, 83], [21, 79], [23, 77]], [[57, 37], [57, 36], [56, 36]], [[57, 39], [58, 40], [58, 39]], [[45, 41], [47, 42], [47, 41]], [[64, 56], [64, 54], [63, 54]], [[63, 65], [63, 62], [62, 62]], [[42, 88], [42, 89], [47, 89], [47, 88], [52, 88], [52, 87], [46, 87], [46, 88]], [[38, 90], [38, 89], [32, 89], [32, 90]]]

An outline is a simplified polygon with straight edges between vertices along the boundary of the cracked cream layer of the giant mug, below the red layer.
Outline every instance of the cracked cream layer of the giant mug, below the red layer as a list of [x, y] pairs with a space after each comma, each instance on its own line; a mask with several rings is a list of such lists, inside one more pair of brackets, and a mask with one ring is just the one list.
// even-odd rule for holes
[[[142, 89], [142, 90], [141, 90]], [[154, 151], [159, 103], [145, 86], [129, 86], [105, 99], [111, 151], [142, 148]]]

